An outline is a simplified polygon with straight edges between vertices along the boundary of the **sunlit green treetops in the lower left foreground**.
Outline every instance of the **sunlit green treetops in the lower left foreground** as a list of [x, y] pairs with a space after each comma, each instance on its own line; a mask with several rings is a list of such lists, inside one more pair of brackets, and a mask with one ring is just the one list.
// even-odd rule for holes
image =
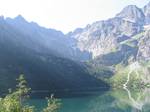
[[[15, 91], [9, 89], [9, 94], [0, 98], [0, 112], [35, 112], [34, 106], [25, 105], [28, 100], [30, 88], [27, 87], [27, 82], [23, 75], [17, 79], [18, 84]], [[48, 99], [48, 105], [43, 112], [57, 112], [60, 108], [60, 100], [51, 97]]]

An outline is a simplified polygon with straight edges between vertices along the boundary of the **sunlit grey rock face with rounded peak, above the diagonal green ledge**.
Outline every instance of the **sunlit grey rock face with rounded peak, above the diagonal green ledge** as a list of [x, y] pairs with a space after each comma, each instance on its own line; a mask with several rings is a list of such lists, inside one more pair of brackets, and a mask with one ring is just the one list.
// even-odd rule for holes
[[[126, 11], [135, 14], [132, 15], [134, 18], [130, 17], [131, 14]], [[69, 35], [71, 38], [77, 39], [77, 46], [81, 51], [88, 51], [92, 53], [93, 58], [96, 58], [113, 52], [120, 42], [130, 39], [142, 31], [143, 26], [141, 24], [143, 24], [144, 18], [141, 17], [143, 17], [143, 13], [140, 9], [135, 6], [128, 6], [114, 18], [95, 22], [79, 33], [73, 32]]]

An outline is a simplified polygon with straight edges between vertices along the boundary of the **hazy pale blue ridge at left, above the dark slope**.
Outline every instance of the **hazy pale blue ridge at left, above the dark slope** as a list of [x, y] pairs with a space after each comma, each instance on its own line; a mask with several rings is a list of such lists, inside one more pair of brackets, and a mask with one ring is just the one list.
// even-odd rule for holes
[[32, 42], [32, 45], [38, 44], [36, 47], [33, 47], [32, 45], [29, 45], [28, 47], [36, 48], [36, 50], [44, 47], [47, 50], [57, 53], [61, 57], [73, 60], [87, 60], [90, 58], [89, 53], [81, 52], [77, 48], [74, 49], [72, 47], [73, 40], [66, 38], [61, 31], [47, 29], [39, 26], [37, 23], [28, 22], [21, 15], [14, 19], [6, 18], [5, 21], [14, 29], [24, 34], [26, 39]]

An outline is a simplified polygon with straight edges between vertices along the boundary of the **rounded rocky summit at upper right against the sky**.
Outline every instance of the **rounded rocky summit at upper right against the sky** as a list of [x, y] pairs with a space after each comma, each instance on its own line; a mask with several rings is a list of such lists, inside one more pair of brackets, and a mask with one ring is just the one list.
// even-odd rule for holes
[[129, 5], [125, 7], [119, 14], [116, 15], [116, 17], [140, 25], [143, 25], [145, 21], [145, 15], [142, 9], [138, 8], [135, 5]]

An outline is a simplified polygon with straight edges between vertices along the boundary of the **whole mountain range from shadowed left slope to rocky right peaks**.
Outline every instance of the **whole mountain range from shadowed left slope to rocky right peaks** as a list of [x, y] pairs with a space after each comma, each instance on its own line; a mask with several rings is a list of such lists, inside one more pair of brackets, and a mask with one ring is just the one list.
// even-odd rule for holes
[[118, 64], [150, 60], [149, 43], [150, 3], [129, 5], [113, 18], [67, 34], [21, 15], [1, 16], [0, 91], [15, 85], [20, 73], [33, 90], [107, 88], [101, 79], [115, 75]]

